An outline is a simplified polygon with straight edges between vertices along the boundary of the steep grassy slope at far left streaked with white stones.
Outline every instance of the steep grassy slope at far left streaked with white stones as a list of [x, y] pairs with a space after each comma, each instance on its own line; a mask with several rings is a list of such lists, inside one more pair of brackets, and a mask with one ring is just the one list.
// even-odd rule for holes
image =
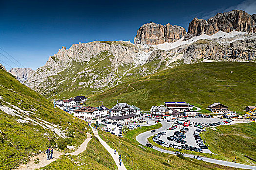
[[66, 146], [79, 146], [87, 130], [84, 121], [0, 69], [0, 169], [13, 169], [48, 146], [70, 152]]

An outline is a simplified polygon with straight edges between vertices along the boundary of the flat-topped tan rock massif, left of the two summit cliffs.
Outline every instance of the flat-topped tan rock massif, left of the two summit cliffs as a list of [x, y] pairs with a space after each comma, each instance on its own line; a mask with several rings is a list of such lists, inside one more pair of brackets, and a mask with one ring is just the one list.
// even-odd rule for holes
[[185, 36], [185, 28], [177, 25], [161, 25], [147, 23], [140, 27], [134, 38], [134, 44], [163, 44], [165, 42], [175, 42]]

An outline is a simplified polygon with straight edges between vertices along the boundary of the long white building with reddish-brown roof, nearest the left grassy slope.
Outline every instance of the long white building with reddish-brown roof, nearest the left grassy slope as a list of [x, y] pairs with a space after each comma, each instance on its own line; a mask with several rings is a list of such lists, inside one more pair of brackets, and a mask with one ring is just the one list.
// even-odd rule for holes
[[74, 116], [82, 120], [96, 119], [99, 116], [99, 110], [96, 107], [81, 107], [74, 110]]

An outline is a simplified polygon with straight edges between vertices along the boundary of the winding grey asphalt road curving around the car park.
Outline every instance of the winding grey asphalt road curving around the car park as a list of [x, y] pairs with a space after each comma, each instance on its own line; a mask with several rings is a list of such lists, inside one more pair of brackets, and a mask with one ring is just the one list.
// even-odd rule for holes
[[[166, 121], [162, 121], [162, 127], [159, 129], [156, 129], [156, 132], [151, 133], [150, 131], [144, 132], [139, 134], [138, 136], [136, 136], [136, 140], [142, 144], [145, 145], [147, 142], [147, 139], [155, 134], [157, 134], [158, 132], [163, 132], [166, 131], [166, 129], [169, 128], [170, 124], [167, 123]], [[153, 149], [163, 152], [163, 153], [168, 153], [168, 154], [173, 154], [175, 152], [173, 151], [169, 151], [169, 150], [164, 150], [158, 147], [153, 147]], [[184, 154], [185, 157], [189, 157], [189, 158], [193, 158], [195, 155], [191, 155], [191, 154]], [[202, 157], [202, 156], [200, 156]], [[235, 163], [235, 162], [229, 162], [229, 161], [222, 161], [222, 160], [217, 160], [217, 159], [211, 159], [211, 158], [207, 158], [207, 157], [202, 157], [203, 160], [205, 162], [210, 162], [210, 163], [214, 163], [214, 164], [219, 164], [219, 165], [224, 165], [224, 166], [229, 166], [229, 167], [235, 167], [235, 168], [243, 168], [243, 169], [251, 169], [251, 170], [256, 170], [256, 166], [251, 166], [251, 165], [244, 165], [244, 164], [239, 164], [239, 163]]]

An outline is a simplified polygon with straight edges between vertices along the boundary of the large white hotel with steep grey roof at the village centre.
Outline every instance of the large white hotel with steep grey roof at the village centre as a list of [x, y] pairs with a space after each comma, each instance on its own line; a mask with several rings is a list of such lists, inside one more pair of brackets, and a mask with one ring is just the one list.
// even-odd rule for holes
[[111, 108], [109, 122], [117, 122], [118, 124], [128, 124], [133, 120], [137, 120], [138, 115], [134, 114], [134, 108], [127, 103], [118, 103]]

